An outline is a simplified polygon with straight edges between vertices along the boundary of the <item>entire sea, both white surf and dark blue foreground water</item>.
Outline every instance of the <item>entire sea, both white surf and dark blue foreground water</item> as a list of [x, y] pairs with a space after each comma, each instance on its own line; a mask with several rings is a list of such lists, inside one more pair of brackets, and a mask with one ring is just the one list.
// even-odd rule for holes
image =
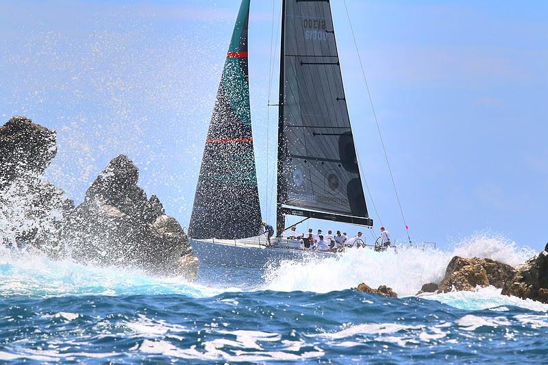
[[[488, 287], [421, 294], [453, 255], [534, 255], [475, 236], [451, 250], [353, 249], [199, 277], [0, 250], [0, 362], [14, 364], [523, 364], [548, 360], [548, 305]], [[398, 298], [358, 292], [392, 287]]]

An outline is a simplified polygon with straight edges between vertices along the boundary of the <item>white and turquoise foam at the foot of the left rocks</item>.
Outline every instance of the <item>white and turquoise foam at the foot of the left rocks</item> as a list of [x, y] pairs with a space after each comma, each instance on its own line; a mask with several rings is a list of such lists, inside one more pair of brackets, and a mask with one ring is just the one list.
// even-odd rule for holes
[[152, 277], [136, 269], [88, 266], [70, 259], [53, 261], [42, 255], [0, 249], [0, 294], [4, 296], [184, 294], [212, 297], [225, 291], [192, 284], [183, 277]]

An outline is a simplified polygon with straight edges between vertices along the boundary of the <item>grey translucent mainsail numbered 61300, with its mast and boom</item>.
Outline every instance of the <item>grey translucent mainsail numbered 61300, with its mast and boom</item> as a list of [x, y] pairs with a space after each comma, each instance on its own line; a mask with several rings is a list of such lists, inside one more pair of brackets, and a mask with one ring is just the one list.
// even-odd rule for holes
[[284, 214], [371, 226], [329, 0], [283, 7], [278, 233]]

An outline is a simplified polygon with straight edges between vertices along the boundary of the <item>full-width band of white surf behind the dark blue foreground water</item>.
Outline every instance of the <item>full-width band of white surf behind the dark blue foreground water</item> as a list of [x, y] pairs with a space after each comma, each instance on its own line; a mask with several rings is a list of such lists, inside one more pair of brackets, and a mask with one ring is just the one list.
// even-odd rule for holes
[[[306, 262], [284, 261], [260, 273], [223, 277], [221, 268], [202, 275], [201, 284], [184, 277], [155, 277], [132, 268], [93, 266], [66, 258], [51, 260], [45, 255], [3, 247], [0, 249], [0, 294], [3, 297], [66, 297], [71, 295], [142, 295], [182, 294], [186, 297], [214, 297], [223, 292], [273, 290], [278, 292], [338, 292], [355, 288], [361, 282], [369, 286], [390, 286], [400, 297], [414, 296], [428, 282], [439, 282], [454, 255], [488, 257], [516, 266], [534, 255], [531, 249], [521, 249], [501, 237], [476, 235], [462, 240], [451, 251], [398, 247], [377, 253], [369, 249], [353, 249], [338, 257]], [[228, 270], [228, 268], [225, 268]], [[245, 270], [243, 268], [242, 270]], [[251, 275], [253, 274], [253, 275]], [[231, 277], [232, 277], [231, 276]], [[215, 279], [216, 278], [216, 279]], [[235, 288], [237, 287], [237, 288]], [[524, 301], [500, 294], [493, 287], [475, 292], [427, 294], [423, 299], [435, 299], [462, 310], [483, 310], [504, 306], [548, 311], [548, 305]]]

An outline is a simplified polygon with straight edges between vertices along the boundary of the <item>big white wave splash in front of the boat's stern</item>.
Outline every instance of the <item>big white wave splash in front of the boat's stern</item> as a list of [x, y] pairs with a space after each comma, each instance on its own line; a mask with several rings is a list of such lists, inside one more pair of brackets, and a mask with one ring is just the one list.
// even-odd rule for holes
[[279, 291], [330, 292], [365, 282], [371, 287], [390, 286], [400, 297], [416, 294], [428, 282], [439, 282], [454, 255], [487, 257], [512, 266], [534, 255], [514, 242], [484, 234], [467, 238], [451, 252], [399, 247], [377, 253], [352, 249], [338, 257], [308, 262], [282, 262], [266, 273], [266, 288]]

